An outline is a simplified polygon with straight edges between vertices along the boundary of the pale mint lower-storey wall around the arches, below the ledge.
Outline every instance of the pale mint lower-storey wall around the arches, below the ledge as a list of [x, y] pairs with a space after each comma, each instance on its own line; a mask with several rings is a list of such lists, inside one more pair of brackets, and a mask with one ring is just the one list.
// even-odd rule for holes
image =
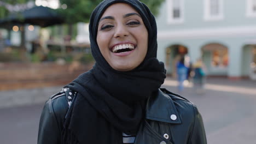
[[[210, 67], [211, 54], [207, 54], [208, 57], [204, 56], [203, 59], [207, 61], [206, 66], [208, 68], [208, 73], [211, 75], [228, 75], [228, 76], [241, 76], [243, 74], [248, 74], [248, 69], [242, 71], [242, 53], [243, 46], [247, 39], [253, 39], [251, 37], [221, 37], [221, 38], [205, 38], [205, 39], [182, 39], [182, 40], [158, 40], [158, 59], [165, 62], [165, 50], [166, 47], [174, 44], [181, 44], [188, 47], [188, 55], [191, 57], [193, 62], [197, 58], [201, 57], [201, 48], [206, 44], [218, 43], [228, 47], [229, 52], [229, 67], [227, 69], [217, 69], [214, 70]], [[247, 52], [248, 53], [248, 52]], [[247, 55], [247, 54], [245, 54]], [[243, 63], [246, 63], [243, 62]]]

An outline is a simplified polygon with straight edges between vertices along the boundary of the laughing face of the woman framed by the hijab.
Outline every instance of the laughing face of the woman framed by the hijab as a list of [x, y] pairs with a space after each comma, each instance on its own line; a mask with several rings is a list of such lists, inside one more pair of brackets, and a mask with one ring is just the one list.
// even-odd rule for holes
[[138, 67], [148, 49], [148, 31], [129, 4], [110, 5], [98, 23], [97, 44], [108, 64], [118, 71]]

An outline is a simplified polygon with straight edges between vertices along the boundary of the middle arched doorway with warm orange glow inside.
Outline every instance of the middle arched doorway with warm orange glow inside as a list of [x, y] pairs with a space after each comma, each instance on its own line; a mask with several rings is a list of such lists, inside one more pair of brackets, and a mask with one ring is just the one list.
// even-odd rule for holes
[[227, 76], [229, 66], [228, 47], [211, 43], [202, 47], [202, 61], [208, 75]]

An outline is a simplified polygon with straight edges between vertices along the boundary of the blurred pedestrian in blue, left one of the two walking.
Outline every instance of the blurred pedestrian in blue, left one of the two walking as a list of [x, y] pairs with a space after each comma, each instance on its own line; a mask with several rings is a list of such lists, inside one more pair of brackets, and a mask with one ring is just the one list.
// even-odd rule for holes
[[184, 81], [187, 80], [188, 76], [188, 67], [185, 66], [185, 58], [181, 57], [179, 62], [176, 64], [177, 69], [177, 78], [178, 78], [178, 90], [182, 92], [184, 89]]

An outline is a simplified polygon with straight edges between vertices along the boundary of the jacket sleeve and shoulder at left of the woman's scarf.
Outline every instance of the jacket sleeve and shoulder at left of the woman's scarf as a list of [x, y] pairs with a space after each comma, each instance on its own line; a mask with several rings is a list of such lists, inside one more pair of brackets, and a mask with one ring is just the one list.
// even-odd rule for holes
[[60, 143], [62, 125], [68, 110], [65, 93], [52, 95], [45, 103], [40, 116], [38, 144]]

